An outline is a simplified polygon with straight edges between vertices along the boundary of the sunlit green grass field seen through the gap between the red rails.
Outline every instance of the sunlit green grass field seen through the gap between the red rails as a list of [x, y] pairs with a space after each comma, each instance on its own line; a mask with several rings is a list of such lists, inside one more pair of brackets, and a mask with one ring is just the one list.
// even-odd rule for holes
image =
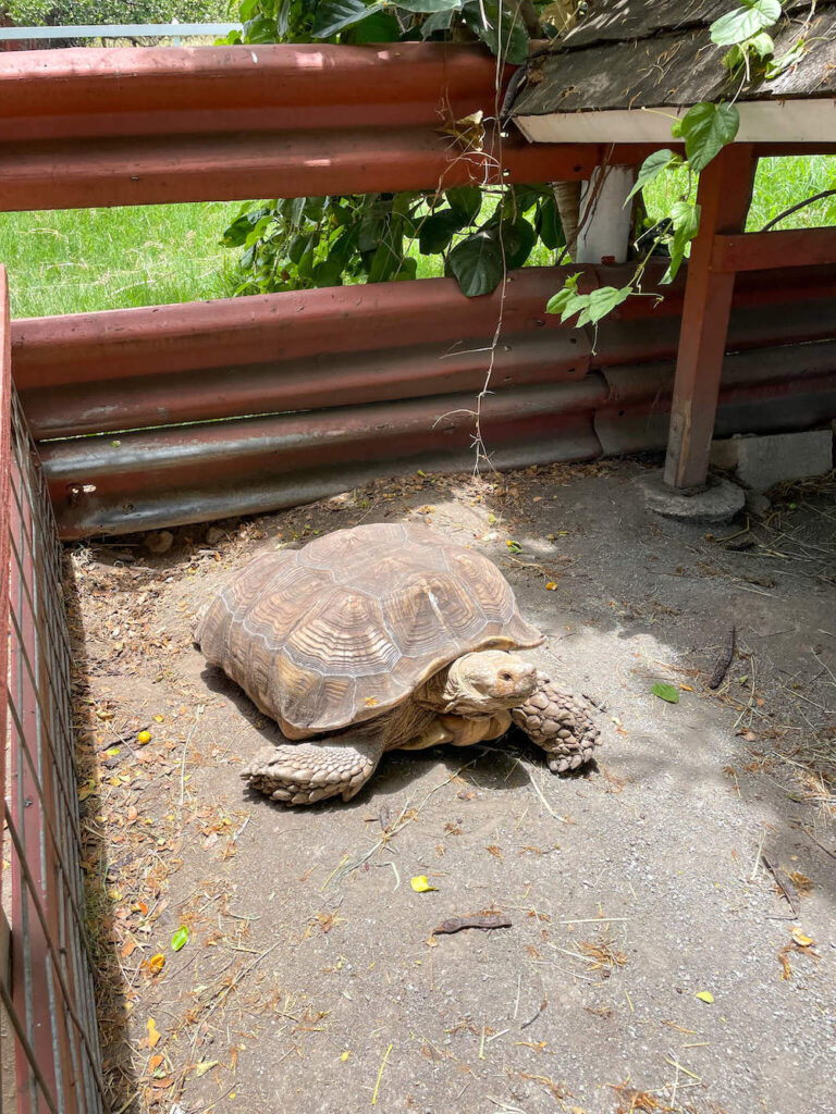
[[[687, 188], [681, 174], [665, 175], [645, 190], [649, 214], [663, 216]], [[757, 231], [795, 202], [836, 187], [836, 156], [762, 159], [758, 168], [749, 231]], [[486, 207], [495, 204], [486, 202]], [[0, 214], [0, 263], [10, 276], [12, 314], [58, 313], [231, 296], [239, 250], [221, 235], [237, 202], [149, 205], [137, 208]], [[780, 227], [836, 225], [836, 197], [817, 202]], [[441, 273], [440, 256], [420, 256], [418, 276]], [[554, 261], [537, 245], [531, 265]]]

